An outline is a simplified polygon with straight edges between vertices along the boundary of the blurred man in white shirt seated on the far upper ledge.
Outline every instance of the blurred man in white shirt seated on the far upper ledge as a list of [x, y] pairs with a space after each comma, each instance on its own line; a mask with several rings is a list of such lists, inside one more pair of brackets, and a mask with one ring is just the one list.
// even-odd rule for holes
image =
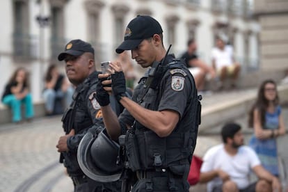
[[222, 38], [216, 39], [216, 47], [212, 49], [212, 65], [216, 70], [223, 88], [223, 82], [228, 77], [231, 77], [231, 87], [235, 88], [235, 83], [239, 77], [240, 64], [236, 63], [233, 58], [233, 48], [230, 45], [225, 45]]

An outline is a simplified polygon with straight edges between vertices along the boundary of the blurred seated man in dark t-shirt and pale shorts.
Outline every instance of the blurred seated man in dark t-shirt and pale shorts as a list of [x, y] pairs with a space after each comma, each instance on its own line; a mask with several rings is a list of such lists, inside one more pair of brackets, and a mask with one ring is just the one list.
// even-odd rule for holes
[[210, 67], [203, 61], [201, 61], [195, 54], [197, 45], [193, 39], [187, 42], [187, 51], [182, 54], [181, 58], [184, 59], [186, 67], [189, 67], [191, 74], [195, 79], [196, 87], [199, 91], [205, 88], [205, 78], [207, 74], [210, 74], [210, 78], [215, 77], [215, 71], [213, 67]]

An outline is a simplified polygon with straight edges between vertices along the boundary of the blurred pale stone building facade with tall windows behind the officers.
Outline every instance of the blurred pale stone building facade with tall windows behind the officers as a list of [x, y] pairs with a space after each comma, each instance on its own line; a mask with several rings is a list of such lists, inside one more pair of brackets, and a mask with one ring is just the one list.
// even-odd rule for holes
[[97, 63], [113, 60], [125, 26], [139, 14], [161, 23], [164, 45], [173, 45], [176, 56], [195, 38], [198, 55], [211, 65], [216, 35], [225, 33], [243, 73], [261, 68], [260, 25], [250, 0], [1, 0], [0, 9], [0, 94], [15, 68], [24, 66], [31, 74], [33, 99], [40, 100], [47, 66], [58, 63], [64, 71], [56, 56], [74, 38], [94, 45]]

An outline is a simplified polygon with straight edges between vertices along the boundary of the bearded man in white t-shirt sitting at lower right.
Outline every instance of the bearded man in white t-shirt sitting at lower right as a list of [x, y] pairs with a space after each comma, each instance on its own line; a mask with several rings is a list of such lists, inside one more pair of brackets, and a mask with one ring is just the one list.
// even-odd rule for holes
[[[278, 178], [261, 166], [250, 147], [243, 145], [240, 125], [228, 123], [221, 134], [224, 143], [207, 151], [200, 170], [200, 182], [208, 182], [208, 192], [281, 191]], [[251, 169], [259, 178], [252, 184], [248, 179]]]

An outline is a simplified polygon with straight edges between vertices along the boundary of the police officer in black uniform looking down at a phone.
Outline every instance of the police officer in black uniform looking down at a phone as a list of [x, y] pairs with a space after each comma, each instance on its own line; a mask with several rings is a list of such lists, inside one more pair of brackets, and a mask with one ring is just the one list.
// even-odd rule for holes
[[[200, 99], [184, 62], [163, 47], [162, 32], [157, 20], [138, 15], [129, 22], [124, 42], [116, 49], [118, 54], [131, 50], [138, 65], [149, 67], [132, 99], [125, 94], [125, 77], [118, 62], [110, 64], [111, 80], [97, 85], [97, 93], [113, 93], [125, 107], [117, 119], [105, 97], [96, 96], [109, 136], [120, 144], [125, 141], [125, 165], [135, 177], [132, 191], [189, 191], [187, 177], [200, 124]], [[122, 191], [129, 191], [129, 186], [123, 186]]]

